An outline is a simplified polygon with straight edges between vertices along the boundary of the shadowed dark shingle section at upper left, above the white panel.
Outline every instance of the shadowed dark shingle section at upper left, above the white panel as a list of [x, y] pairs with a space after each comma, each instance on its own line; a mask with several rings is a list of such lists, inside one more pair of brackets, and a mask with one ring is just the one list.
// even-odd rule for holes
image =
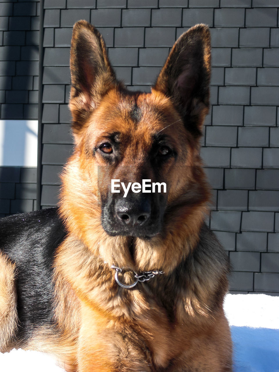
[[0, 2], [1, 119], [38, 119], [39, 5]]

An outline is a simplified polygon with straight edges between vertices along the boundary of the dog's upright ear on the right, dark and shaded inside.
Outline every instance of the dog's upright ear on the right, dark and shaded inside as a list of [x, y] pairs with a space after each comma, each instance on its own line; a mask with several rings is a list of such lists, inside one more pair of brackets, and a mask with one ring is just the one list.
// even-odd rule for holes
[[209, 109], [210, 62], [209, 28], [196, 25], [177, 39], [154, 86], [173, 100], [195, 137]]

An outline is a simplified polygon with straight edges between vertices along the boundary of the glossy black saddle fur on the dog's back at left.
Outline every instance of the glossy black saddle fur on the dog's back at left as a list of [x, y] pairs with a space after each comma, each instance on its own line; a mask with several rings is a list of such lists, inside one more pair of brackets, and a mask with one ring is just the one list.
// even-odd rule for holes
[[52, 262], [65, 235], [57, 208], [0, 219], [0, 251], [16, 263], [17, 269], [16, 338], [31, 335], [34, 328], [52, 323]]

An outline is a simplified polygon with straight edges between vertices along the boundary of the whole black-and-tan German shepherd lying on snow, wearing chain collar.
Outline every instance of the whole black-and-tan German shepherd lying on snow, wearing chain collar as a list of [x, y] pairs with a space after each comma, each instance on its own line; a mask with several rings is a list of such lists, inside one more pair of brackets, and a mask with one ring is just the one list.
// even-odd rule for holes
[[[78, 372], [232, 371], [229, 265], [204, 222], [199, 157], [208, 27], [180, 36], [151, 93], [116, 80], [83, 20], [70, 67], [75, 147], [59, 207], [0, 222], [1, 351], [40, 350]], [[124, 198], [112, 179], [164, 182], [166, 192]]]

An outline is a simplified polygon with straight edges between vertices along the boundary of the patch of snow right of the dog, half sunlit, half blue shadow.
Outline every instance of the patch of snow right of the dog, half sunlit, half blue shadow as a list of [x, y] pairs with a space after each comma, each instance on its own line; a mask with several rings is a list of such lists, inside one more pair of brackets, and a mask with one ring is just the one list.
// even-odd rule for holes
[[234, 371], [279, 372], [279, 297], [227, 295], [224, 310], [234, 343]]

